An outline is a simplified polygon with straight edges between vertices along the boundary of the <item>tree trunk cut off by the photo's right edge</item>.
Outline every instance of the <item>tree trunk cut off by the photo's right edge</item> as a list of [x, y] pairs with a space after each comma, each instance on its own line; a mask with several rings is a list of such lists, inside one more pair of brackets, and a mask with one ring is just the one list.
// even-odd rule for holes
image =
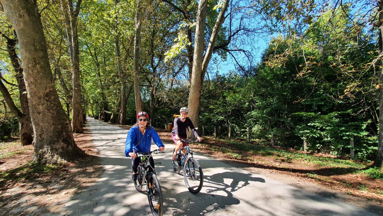
[[[379, 13], [379, 55], [383, 53], [383, 2], [378, 1]], [[380, 61], [383, 65], [383, 61]], [[379, 82], [383, 83], [383, 71], [380, 71]], [[376, 156], [373, 167], [383, 170], [383, 87], [379, 89], [379, 135], [378, 135], [378, 155]]]

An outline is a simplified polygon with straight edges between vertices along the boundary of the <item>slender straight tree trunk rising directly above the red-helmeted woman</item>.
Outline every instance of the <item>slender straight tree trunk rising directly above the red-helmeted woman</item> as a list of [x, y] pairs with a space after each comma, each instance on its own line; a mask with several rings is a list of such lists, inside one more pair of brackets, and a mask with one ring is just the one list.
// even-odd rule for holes
[[134, 34], [134, 55], [133, 55], [133, 73], [134, 73], [134, 99], [136, 101], [136, 113], [144, 109], [141, 99], [140, 82], [139, 82], [139, 60], [140, 60], [140, 44], [141, 44], [141, 8], [140, 1], [137, 2], [136, 12], [136, 31]]

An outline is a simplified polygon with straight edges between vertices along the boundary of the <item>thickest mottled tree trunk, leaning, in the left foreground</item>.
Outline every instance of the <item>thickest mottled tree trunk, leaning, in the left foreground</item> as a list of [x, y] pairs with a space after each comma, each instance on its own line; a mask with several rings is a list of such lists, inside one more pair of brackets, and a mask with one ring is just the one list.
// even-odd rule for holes
[[33, 161], [57, 163], [81, 155], [55, 89], [36, 1], [1, 0], [18, 36], [34, 129]]

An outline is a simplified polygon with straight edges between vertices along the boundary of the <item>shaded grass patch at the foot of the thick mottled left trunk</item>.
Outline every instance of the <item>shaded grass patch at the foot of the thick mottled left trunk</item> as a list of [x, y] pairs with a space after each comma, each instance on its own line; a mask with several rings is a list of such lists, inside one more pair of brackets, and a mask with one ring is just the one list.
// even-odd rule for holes
[[38, 163], [27, 163], [20, 167], [0, 172], [0, 187], [9, 181], [20, 181], [34, 177], [34, 175], [44, 175], [51, 171], [58, 170], [60, 165], [41, 165]]

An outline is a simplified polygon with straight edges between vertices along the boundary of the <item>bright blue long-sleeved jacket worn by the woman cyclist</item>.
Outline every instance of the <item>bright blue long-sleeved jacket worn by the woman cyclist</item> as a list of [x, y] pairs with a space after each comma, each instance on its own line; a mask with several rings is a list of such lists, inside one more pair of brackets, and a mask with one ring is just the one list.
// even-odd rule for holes
[[129, 157], [129, 153], [133, 152], [133, 148], [136, 149], [137, 152], [141, 153], [150, 152], [152, 138], [155, 145], [157, 145], [158, 147], [165, 147], [165, 145], [162, 143], [159, 135], [153, 127], [146, 127], [144, 135], [142, 135], [141, 131], [138, 128], [138, 125], [132, 127], [128, 132], [128, 136], [126, 137], [125, 156]]

